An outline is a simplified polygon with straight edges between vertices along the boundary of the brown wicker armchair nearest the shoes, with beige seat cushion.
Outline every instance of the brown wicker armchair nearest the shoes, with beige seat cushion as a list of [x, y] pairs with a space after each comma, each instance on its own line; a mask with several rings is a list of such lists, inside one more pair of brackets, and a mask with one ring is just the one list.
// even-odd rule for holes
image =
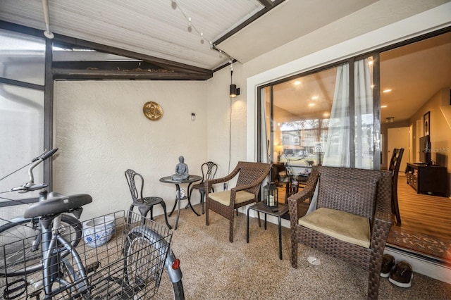
[[[317, 182], [316, 211], [301, 218], [298, 211], [313, 196]], [[368, 270], [368, 298], [377, 299], [383, 250], [392, 225], [390, 194], [388, 171], [314, 166], [307, 186], [288, 198], [292, 267], [297, 268], [297, 243], [319, 249]], [[359, 237], [358, 229], [365, 227]]]

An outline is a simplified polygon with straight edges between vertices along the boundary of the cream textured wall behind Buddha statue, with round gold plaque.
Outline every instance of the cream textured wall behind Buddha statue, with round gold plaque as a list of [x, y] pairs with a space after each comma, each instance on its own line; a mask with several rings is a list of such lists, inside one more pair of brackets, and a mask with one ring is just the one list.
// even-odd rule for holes
[[[159, 178], [175, 172], [185, 156], [190, 174], [199, 174], [207, 158], [206, 82], [61, 81], [55, 83], [54, 132], [59, 147], [54, 160], [54, 190], [88, 193], [82, 219], [126, 210], [131, 198], [124, 171], [144, 176], [144, 194], [162, 196], [172, 208], [175, 186]], [[148, 120], [147, 101], [163, 108]], [[196, 120], [191, 120], [196, 113]], [[199, 193], [194, 194], [199, 202]], [[185, 202], [183, 202], [185, 204]], [[161, 207], [154, 210], [163, 213]]]

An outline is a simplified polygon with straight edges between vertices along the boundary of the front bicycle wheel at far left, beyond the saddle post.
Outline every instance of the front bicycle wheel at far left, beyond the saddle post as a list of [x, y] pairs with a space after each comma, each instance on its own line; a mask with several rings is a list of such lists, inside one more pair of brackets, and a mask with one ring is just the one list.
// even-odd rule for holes
[[[41, 229], [37, 218], [0, 226], [0, 275], [24, 275], [42, 269], [39, 249]], [[61, 215], [60, 234], [75, 248], [82, 237], [82, 225], [70, 215]], [[32, 251], [34, 244], [35, 251]], [[61, 257], [68, 254], [62, 248]], [[6, 269], [6, 270], [5, 270]]]

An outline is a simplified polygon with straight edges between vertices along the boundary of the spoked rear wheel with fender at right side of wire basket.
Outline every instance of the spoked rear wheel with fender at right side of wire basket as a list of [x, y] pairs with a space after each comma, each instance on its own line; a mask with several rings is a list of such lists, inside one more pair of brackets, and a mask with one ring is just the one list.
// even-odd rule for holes
[[[154, 299], [185, 299], [181, 277], [178, 282], [171, 282], [167, 269], [171, 266], [159, 257], [163, 248], [168, 246], [158, 233], [147, 227], [136, 227], [128, 233], [124, 246], [125, 280], [135, 290], [135, 298], [146, 298], [149, 291], [145, 286], [153, 284], [156, 287], [150, 289], [156, 292]], [[175, 257], [170, 249], [168, 251], [168, 256]], [[164, 266], [161, 264], [166, 264], [162, 274], [160, 270]]]

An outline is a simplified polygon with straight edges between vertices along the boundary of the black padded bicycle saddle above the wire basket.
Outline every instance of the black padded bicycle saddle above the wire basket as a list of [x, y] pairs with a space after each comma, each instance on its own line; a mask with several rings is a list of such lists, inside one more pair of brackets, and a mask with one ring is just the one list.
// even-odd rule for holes
[[68, 213], [75, 208], [80, 208], [92, 202], [92, 197], [88, 194], [63, 195], [58, 192], [51, 192], [47, 200], [32, 204], [24, 213], [25, 218], [40, 217], [42, 215], [58, 215]]

